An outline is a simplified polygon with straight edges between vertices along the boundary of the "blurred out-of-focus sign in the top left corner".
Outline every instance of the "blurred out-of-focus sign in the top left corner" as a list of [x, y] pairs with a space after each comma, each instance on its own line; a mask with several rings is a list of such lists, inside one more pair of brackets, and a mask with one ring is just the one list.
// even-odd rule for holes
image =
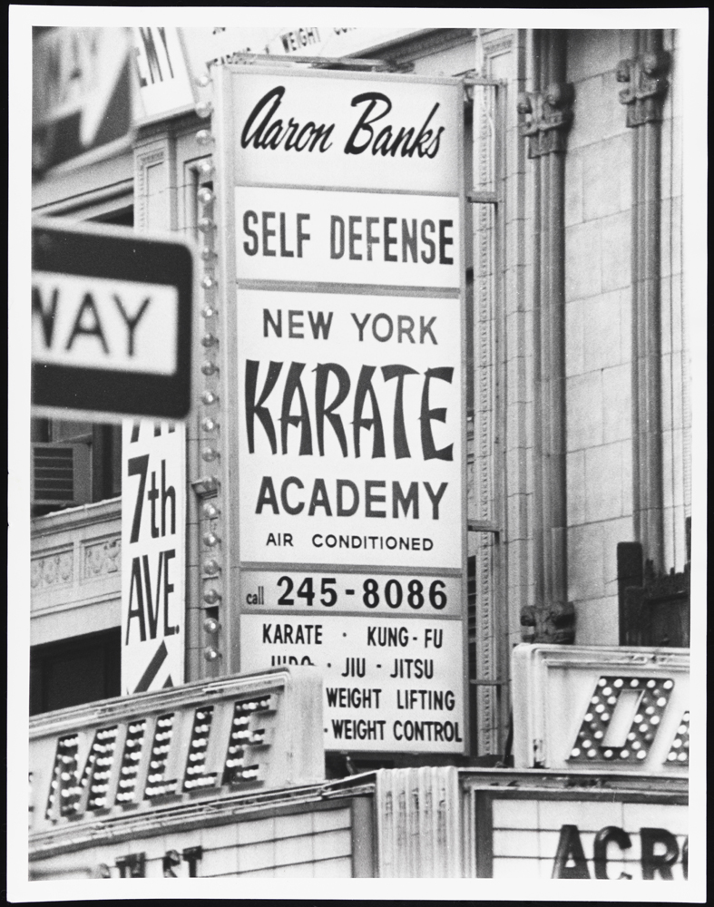
[[35, 28], [34, 171], [106, 157], [131, 130], [129, 29]]

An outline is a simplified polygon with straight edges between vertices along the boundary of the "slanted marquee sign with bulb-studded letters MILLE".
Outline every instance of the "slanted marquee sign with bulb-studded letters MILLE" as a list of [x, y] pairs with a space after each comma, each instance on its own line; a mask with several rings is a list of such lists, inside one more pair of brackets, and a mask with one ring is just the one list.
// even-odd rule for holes
[[112, 699], [30, 722], [31, 834], [323, 779], [317, 671]]

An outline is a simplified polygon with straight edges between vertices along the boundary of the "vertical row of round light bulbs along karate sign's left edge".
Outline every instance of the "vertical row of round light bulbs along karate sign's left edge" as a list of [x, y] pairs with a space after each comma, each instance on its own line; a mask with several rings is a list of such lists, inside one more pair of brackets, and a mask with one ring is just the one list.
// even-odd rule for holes
[[[210, 85], [210, 77], [203, 76], [199, 86], [206, 88]], [[212, 112], [210, 101], [200, 102], [196, 112], [202, 119], [209, 119]], [[202, 146], [210, 146], [213, 135], [210, 130], [202, 129], [196, 134], [196, 141]], [[201, 161], [200, 182], [210, 180], [213, 175], [213, 163], [210, 158]], [[217, 362], [220, 337], [219, 337], [219, 310], [217, 304], [218, 287], [216, 282], [217, 255], [215, 249], [216, 222], [215, 222], [215, 193], [207, 186], [200, 186], [198, 190], [199, 202], [199, 231], [201, 233], [201, 290], [203, 306], [203, 362], [201, 374], [203, 375], [203, 391], [201, 405], [203, 414], [201, 418], [201, 460], [209, 471], [220, 472], [220, 424], [219, 424], [219, 399], [220, 399], [220, 367]], [[218, 468], [217, 468], [218, 467]], [[220, 480], [216, 474], [204, 483], [210, 498], [201, 503], [201, 583], [203, 598], [203, 656], [209, 663], [220, 660], [219, 631], [220, 631], [220, 603], [222, 600], [221, 585], [221, 544], [220, 544]]]

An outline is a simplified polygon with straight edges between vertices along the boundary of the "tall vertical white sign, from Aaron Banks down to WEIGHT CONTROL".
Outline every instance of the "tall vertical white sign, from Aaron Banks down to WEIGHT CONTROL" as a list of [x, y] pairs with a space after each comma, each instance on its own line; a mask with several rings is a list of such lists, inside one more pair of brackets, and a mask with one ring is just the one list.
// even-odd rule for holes
[[321, 668], [328, 749], [464, 752], [463, 88], [216, 81], [240, 666]]

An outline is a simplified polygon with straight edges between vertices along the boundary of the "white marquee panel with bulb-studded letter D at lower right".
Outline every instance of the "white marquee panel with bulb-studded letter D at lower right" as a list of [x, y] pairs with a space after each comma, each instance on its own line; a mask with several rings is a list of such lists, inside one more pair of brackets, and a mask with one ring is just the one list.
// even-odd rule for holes
[[687, 649], [523, 644], [512, 663], [516, 768], [688, 774]]

